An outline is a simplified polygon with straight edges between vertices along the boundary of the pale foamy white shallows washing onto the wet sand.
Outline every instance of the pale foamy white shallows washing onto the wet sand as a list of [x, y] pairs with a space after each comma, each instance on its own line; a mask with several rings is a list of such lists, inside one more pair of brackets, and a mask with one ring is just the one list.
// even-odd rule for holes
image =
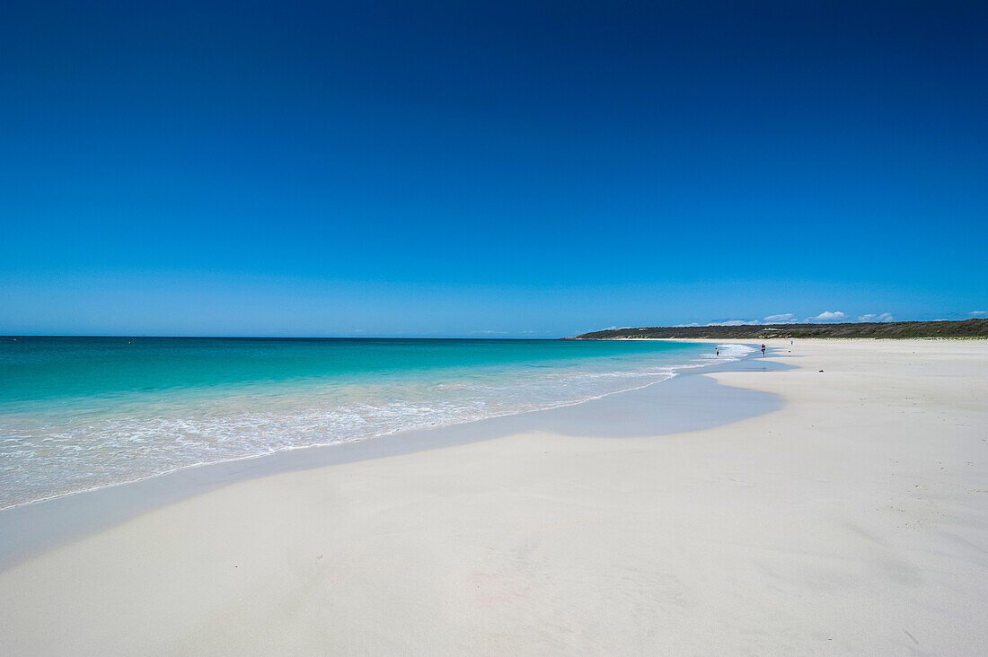
[[207, 402], [130, 403], [100, 413], [2, 415], [0, 509], [207, 463], [579, 404], [754, 351], [735, 344], [719, 349], [719, 356], [698, 351], [693, 360], [629, 362], [623, 370], [538, 367], [486, 376], [464, 370], [458, 380], [362, 381]]

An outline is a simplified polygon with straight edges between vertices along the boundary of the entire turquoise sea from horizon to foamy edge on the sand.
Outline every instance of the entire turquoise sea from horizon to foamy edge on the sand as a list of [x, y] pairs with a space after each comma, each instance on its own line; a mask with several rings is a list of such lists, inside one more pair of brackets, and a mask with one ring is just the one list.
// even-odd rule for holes
[[0, 508], [578, 403], [711, 357], [666, 342], [0, 338]]

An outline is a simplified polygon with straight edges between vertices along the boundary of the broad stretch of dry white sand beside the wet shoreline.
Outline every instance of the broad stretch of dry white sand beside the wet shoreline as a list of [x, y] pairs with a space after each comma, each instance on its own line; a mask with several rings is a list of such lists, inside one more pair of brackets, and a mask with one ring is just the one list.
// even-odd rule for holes
[[794, 368], [703, 374], [781, 395], [757, 417], [283, 472], [40, 550], [0, 653], [988, 652], [988, 342], [770, 346]]

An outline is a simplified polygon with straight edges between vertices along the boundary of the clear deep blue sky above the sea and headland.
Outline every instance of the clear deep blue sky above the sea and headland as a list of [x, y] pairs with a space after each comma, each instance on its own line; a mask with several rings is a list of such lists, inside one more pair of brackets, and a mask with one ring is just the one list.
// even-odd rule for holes
[[988, 3], [202, 4], [0, 9], [0, 333], [988, 311]]

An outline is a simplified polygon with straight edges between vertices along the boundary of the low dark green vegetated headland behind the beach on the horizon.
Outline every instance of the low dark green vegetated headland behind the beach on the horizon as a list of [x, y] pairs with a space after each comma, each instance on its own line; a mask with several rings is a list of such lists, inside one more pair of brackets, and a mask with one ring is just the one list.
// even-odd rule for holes
[[988, 338], [988, 319], [846, 324], [746, 324], [741, 326], [650, 326], [593, 331], [564, 340], [643, 338]]

